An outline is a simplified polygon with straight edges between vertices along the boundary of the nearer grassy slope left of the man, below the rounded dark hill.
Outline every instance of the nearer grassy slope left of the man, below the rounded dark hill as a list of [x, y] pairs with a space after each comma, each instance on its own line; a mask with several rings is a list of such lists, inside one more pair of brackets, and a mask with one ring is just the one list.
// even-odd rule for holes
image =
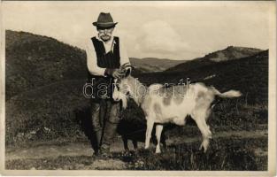
[[74, 110], [88, 106], [83, 81], [60, 81], [6, 102], [6, 142], [76, 140], [84, 137]]

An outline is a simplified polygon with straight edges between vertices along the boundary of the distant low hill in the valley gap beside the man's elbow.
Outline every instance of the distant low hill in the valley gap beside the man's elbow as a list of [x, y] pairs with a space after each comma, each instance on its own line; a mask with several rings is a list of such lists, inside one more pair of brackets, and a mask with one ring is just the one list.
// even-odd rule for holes
[[166, 69], [187, 62], [166, 58], [130, 58], [130, 62], [140, 73], [162, 72]]

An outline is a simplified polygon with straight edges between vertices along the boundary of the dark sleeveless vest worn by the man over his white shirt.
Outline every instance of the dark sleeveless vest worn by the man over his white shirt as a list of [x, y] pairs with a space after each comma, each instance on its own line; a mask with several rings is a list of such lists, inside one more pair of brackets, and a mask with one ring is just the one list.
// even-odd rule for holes
[[[97, 65], [101, 68], [119, 68], [120, 66], [120, 53], [119, 53], [119, 37], [113, 37], [113, 50], [105, 51], [104, 49], [104, 43], [102, 41], [99, 41], [96, 39], [96, 37], [92, 37], [91, 41], [94, 45], [94, 48], [96, 50], [96, 59], [97, 59]], [[92, 99], [93, 101], [100, 101], [101, 99], [112, 99], [112, 83], [113, 78], [111, 76], [96, 76], [92, 75], [88, 72], [88, 82], [91, 82], [91, 80], [94, 78], [93, 82], [93, 96], [95, 96], [95, 99]], [[105, 84], [107, 86], [108, 97], [99, 96], [98, 86], [99, 84]]]

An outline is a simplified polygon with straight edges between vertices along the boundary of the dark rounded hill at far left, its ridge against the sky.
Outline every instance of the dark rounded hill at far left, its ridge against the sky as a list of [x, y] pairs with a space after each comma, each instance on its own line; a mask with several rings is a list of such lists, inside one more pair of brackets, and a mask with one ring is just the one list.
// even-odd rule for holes
[[50, 83], [84, 79], [84, 51], [56, 39], [6, 31], [6, 100]]

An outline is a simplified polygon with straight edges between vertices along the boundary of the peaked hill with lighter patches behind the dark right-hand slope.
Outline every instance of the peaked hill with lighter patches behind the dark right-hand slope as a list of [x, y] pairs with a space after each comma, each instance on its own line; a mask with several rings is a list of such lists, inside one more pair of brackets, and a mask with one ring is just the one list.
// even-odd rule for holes
[[197, 69], [204, 65], [212, 65], [214, 63], [223, 62], [227, 60], [235, 60], [239, 58], [246, 58], [258, 54], [262, 50], [245, 47], [229, 46], [225, 50], [218, 50], [205, 55], [203, 58], [195, 58], [186, 63], [175, 65], [166, 70], [166, 72], [181, 72], [190, 69]]

